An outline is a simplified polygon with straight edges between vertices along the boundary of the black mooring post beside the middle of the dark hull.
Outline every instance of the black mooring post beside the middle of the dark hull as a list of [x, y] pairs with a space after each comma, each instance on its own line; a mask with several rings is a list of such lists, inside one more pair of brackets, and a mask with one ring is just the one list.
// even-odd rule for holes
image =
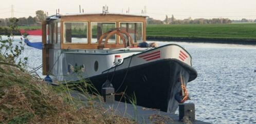
[[102, 88], [101, 95], [103, 96], [104, 102], [106, 104], [114, 104], [115, 102], [115, 89], [113, 87]]

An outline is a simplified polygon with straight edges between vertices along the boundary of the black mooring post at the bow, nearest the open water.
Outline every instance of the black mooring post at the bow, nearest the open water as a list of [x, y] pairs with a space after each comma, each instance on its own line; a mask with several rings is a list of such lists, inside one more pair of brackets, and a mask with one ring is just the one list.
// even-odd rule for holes
[[191, 122], [195, 121], [195, 104], [179, 104], [179, 120], [184, 119], [185, 116], [187, 116]]

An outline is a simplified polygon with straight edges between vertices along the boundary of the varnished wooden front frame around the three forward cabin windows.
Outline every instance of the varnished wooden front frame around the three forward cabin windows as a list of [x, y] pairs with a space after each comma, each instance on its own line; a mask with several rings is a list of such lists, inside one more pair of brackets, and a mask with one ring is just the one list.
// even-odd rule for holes
[[[87, 42], [88, 44], [64, 44], [64, 22], [87, 22]], [[120, 27], [120, 22], [125, 23], [142, 23], [142, 37], [143, 41], [146, 39], [146, 17], [144, 16], [131, 16], [131, 15], [75, 15], [75, 16], [62, 16], [61, 17], [61, 49], [97, 49], [98, 44], [91, 44], [92, 42], [92, 22], [104, 22], [104, 23], [116, 23], [116, 28]], [[120, 44], [120, 38], [116, 35], [116, 44], [109, 44], [106, 47], [122, 48], [123, 44]], [[136, 44], [134, 44], [136, 46]]]

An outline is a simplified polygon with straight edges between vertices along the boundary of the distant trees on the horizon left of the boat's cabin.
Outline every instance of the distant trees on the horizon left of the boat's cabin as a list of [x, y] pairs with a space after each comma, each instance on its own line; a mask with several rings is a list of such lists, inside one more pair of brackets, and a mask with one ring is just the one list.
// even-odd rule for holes
[[42, 10], [38, 10], [35, 12], [36, 16], [32, 17], [20, 17], [20, 18], [0, 18], [0, 26], [10, 26], [11, 19], [17, 19], [18, 26], [31, 26], [31, 25], [41, 25], [41, 21], [45, 20], [46, 14]]

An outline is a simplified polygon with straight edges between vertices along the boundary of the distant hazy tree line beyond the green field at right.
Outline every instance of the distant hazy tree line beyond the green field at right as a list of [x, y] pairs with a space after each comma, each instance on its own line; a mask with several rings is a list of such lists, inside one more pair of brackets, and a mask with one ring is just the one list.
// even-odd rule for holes
[[154, 18], [147, 18], [147, 24], [149, 25], [162, 25], [162, 24], [231, 24], [231, 23], [256, 23], [255, 20], [249, 20], [249, 19], [241, 19], [241, 20], [231, 20], [229, 18], [212, 18], [212, 19], [205, 19], [205, 18], [196, 18], [192, 19], [191, 17], [186, 19], [176, 19], [174, 15], [172, 17], [168, 17], [166, 15], [166, 19], [164, 20], [158, 20]]

